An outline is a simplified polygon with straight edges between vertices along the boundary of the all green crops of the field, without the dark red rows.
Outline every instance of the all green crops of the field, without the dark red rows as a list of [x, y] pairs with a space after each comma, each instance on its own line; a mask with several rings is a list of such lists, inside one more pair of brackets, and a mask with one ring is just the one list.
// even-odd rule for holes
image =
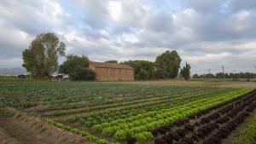
[[[6, 106], [38, 106], [28, 109], [42, 114], [44, 118], [54, 116], [55, 112], [66, 114], [66, 118], [72, 116], [71, 122], [88, 124], [91, 129], [114, 135], [119, 141], [125, 136], [126, 139], [136, 137], [159, 126], [172, 124], [250, 90], [46, 81], [0, 83], [0, 96]], [[83, 135], [92, 143], [104, 142], [84, 130], [53, 124], [73, 134]], [[150, 139], [147, 134], [137, 137], [140, 141]]]

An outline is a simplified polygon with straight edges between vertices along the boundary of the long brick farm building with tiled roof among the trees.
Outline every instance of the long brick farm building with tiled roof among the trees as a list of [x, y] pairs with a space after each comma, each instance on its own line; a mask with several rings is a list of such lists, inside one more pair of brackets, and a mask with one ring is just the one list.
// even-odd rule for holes
[[133, 81], [133, 68], [123, 64], [90, 62], [89, 68], [96, 72], [97, 81]]

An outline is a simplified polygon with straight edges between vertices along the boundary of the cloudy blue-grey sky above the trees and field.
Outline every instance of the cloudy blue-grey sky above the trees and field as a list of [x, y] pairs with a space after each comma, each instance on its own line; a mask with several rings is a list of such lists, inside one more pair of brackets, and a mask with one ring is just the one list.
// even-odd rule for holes
[[255, 28], [255, 0], [1, 0], [0, 68], [21, 67], [32, 40], [55, 32], [90, 60], [177, 50], [192, 73], [256, 72]]

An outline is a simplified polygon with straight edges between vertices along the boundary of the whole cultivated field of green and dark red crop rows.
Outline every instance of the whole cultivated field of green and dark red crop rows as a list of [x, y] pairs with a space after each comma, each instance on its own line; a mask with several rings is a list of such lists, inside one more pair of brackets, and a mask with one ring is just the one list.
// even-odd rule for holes
[[24, 112], [102, 144], [220, 143], [255, 113], [252, 88], [184, 85], [5, 79], [0, 113]]

